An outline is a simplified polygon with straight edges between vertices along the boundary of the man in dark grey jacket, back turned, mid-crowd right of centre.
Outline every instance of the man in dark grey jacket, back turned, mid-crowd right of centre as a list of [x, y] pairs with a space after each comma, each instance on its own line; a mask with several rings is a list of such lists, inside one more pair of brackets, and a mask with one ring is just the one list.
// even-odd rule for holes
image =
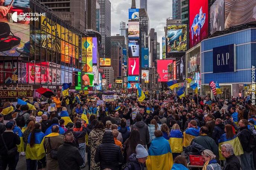
[[142, 115], [136, 115], [136, 123], [132, 125], [131, 131], [137, 129], [140, 132], [140, 139], [144, 144], [148, 144], [149, 142], [149, 131], [148, 126], [142, 121]]

